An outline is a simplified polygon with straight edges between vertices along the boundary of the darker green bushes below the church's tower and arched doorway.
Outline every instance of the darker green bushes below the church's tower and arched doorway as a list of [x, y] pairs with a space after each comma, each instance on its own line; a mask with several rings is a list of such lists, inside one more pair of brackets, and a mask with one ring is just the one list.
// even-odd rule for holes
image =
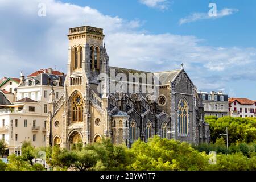
[[56, 169], [76, 168], [80, 171], [125, 169], [129, 159], [127, 148], [114, 146], [110, 140], [71, 151], [53, 146], [46, 149], [46, 158], [48, 164]]

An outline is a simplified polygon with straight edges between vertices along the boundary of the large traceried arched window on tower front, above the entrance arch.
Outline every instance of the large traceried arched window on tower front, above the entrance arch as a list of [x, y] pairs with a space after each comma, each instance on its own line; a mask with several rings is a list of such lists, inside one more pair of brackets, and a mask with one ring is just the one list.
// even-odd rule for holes
[[82, 102], [82, 97], [80, 94], [76, 94], [72, 100], [72, 122], [81, 122], [83, 120], [84, 106]]

